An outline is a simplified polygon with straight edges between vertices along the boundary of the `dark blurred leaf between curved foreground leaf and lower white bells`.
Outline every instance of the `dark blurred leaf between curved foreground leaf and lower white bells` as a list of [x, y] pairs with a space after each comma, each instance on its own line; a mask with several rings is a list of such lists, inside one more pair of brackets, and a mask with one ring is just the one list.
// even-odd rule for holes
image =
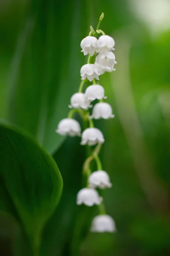
[[[76, 205], [76, 195], [82, 187], [81, 170], [85, 157], [84, 148], [79, 145], [79, 142], [78, 137], [68, 138], [54, 155], [54, 159], [61, 169], [64, 188], [59, 206], [43, 231], [42, 256], [62, 255], [63, 251], [65, 251], [63, 255], [70, 255], [71, 240], [77, 223], [77, 208], [79, 208]], [[67, 161], [65, 161], [65, 157], [67, 157]], [[50, 246], [47, 247], [46, 243]]]

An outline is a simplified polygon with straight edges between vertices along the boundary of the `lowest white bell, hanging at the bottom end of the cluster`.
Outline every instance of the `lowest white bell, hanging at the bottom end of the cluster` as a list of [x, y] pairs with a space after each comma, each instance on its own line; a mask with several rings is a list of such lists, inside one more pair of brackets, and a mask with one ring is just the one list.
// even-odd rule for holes
[[116, 225], [113, 218], [107, 214], [97, 215], [92, 221], [91, 232], [116, 232]]

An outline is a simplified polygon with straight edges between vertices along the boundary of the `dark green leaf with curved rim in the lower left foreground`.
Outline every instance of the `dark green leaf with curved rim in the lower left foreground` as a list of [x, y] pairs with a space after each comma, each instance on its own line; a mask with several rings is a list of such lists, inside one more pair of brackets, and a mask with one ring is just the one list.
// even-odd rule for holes
[[54, 159], [31, 137], [0, 125], [0, 210], [23, 226], [39, 255], [41, 233], [62, 192], [62, 177]]

